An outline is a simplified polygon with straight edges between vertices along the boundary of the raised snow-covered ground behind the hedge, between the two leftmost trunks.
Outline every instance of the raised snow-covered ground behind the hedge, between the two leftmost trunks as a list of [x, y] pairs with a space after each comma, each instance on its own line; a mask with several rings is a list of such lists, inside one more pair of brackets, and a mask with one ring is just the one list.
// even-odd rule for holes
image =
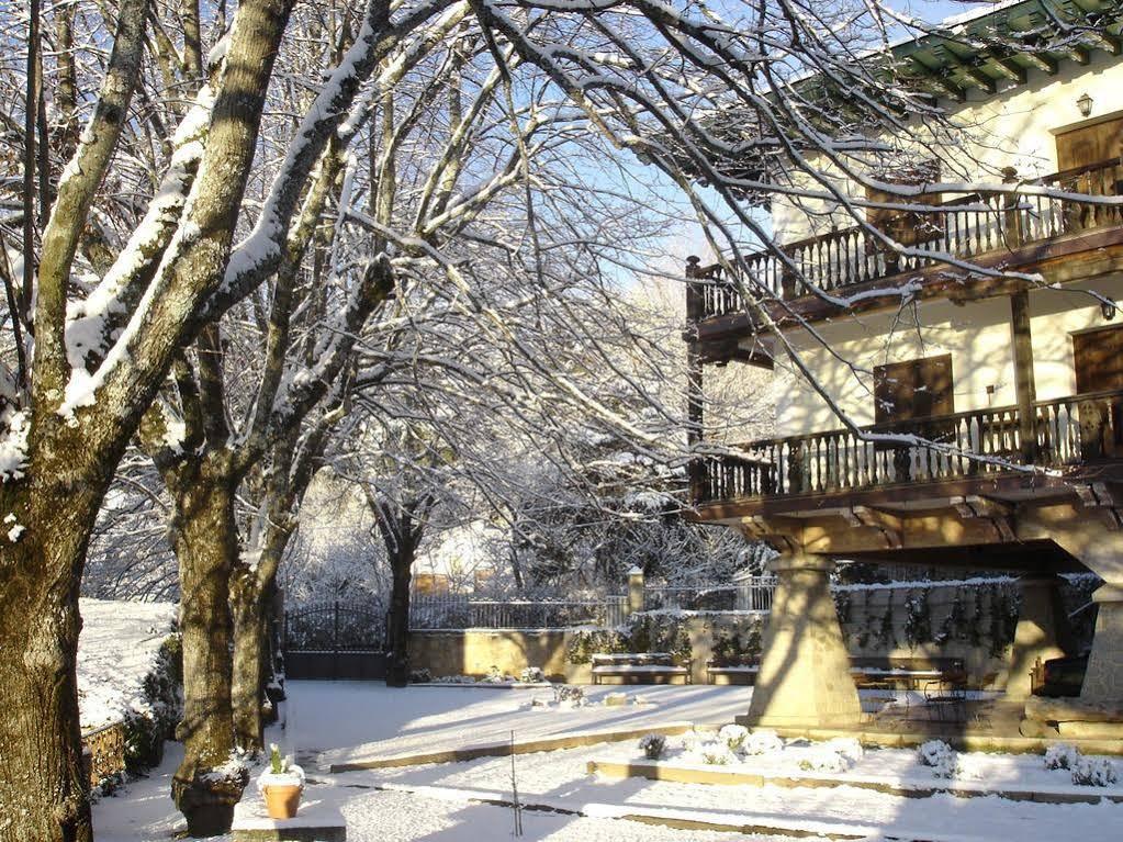
[[143, 710], [144, 678], [175, 623], [174, 603], [80, 600], [77, 695], [82, 730]]

